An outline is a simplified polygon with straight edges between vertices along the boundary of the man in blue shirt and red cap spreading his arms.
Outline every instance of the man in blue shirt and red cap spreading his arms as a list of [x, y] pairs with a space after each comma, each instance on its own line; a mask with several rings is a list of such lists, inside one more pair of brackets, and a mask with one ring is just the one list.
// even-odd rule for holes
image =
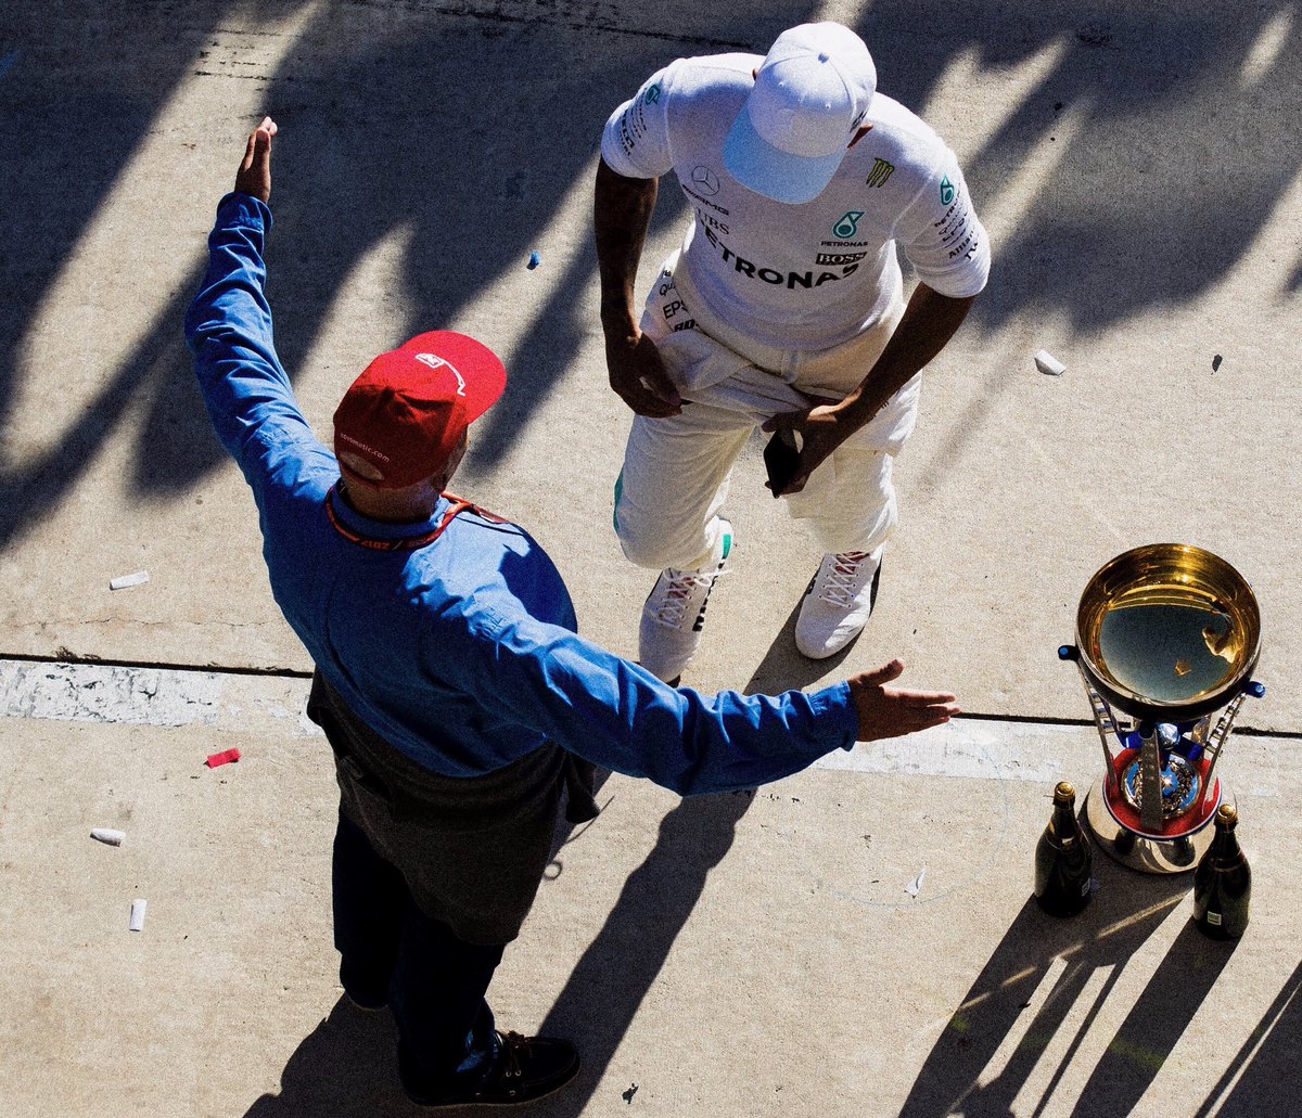
[[208, 238], [186, 340], [253, 489], [276, 603], [316, 665], [309, 713], [336, 755], [335, 940], [363, 1009], [393, 1011], [423, 1105], [525, 1102], [578, 1071], [565, 1040], [500, 1033], [484, 1000], [533, 903], [562, 803], [591, 817], [599, 764], [689, 795], [754, 787], [835, 748], [948, 721], [953, 696], [887, 686], [898, 660], [810, 695], [706, 698], [577, 635], [521, 528], [445, 492], [505, 388], [473, 338], [380, 354], [312, 435], [263, 294], [271, 141], [250, 135]]

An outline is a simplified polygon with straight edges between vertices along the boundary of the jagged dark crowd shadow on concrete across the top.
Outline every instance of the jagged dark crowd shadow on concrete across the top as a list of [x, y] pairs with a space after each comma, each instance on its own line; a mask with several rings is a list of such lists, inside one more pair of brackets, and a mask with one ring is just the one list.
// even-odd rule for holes
[[[475, 0], [436, 13], [396, 0], [270, 0], [258, 5], [260, 25], [250, 25], [243, 5], [217, 0], [74, 3], [55, 14], [12, 5], [0, 20], [0, 142], [13, 169], [0, 177], [9, 215], [0, 233], [9, 308], [0, 324], [0, 420], [27, 377], [52, 375], [25, 359], [39, 310], [185, 82], [212, 83], [215, 113], [223, 81], [258, 82], [284, 129], [272, 297], [293, 371], [340, 286], [395, 230], [410, 232], [404, 290], [395, 293], [400, 340], [447, 321], [525, 266], [562, 202], [590, 190], [607, 115], [658, 65], [684, 53], [763, 52], [814, 5], [754, 0], [681, 18], [577, 0], [512, 10]], [[309, 16], [301, 42], [277, 72], [258, 72], [245, 61], [258, 26], [293, 13]], [[1001, 16], [926, 0], [876, 5], [857, 26], [878, 57], [881, 89], [911, 107], [927, 103], [943, 74], [969, 75], [970, 118], [988, 135], [965, 144], [961, 121], [934, 122], [970, 152], [979, 204], [999, 199], [1018, 210], [975, 311], [987, 325], [1062, 314], [1082, 331], [1101, 329], [1197, 298], [1253, 243], [1302, 160], [1302, 83], [1288, 61], [1302, 53], [1302, 21], [1288, 0], [1250, 12], [1204, 0], [1104, 17], [1085, 0]], [[215, 60], [232, 36], [242, 36], [238, 49]], [[1009, 83], [1023, 89], [1000, 105]], [[983, 112], [986, 102], [996, 107]], [[1061, 156], [1026, 187], [1030, 197], [1001, 199], [1032, 152], [1057, 141]], [[664, 191], [659, 223], [682, 220], [673, 195]], [[135, 208], [107, 216], [139, 220]], [[142, 228], [141, 236], [178, 234]], [[644, 263], [650, 271], [656, 262]], [[115, 299], [137, 297], [132, 266], [121, 260], [118, 275], [86, 293], [95, 314], [111, 316]], [[480, 466], [500, 459], [594, 329], [583, 298], [594, 268], [586, 247], [566, 268], [539, 273], [547, 297], [517, 354], [509, 400], [480, 432]], [[129, 409], [147, 413], [132, 478], [141, 496], [186, 492], [214, 467], [217, 446], [180, 341], [197, 281], [155, 293], [154, 328], [122, 367], [104, 371], [55, 449], [27, 457], [12, 449], [0, 467], [0, 543], [68, 495]]]

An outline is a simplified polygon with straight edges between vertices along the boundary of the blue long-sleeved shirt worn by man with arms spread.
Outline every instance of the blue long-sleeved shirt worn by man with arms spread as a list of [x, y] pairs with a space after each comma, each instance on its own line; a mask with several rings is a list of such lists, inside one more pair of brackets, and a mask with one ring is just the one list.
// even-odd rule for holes
[[[327, 682], [385, 741], [444, 776], [478, 776], [546, 741], [681, 794], [754, 787], [854, 743], [838, 683], [777, 698], [706, 698], [577, 634], [560, 574], [522, 528], [464, 511], [431, 544], [402, 540], [339, 493], [272, 342], [263, 294], [271, 211], [228, 194], [185, 321], [212, 424], [253, 488], [271, 590]], [[327, 501], [345, 531], [331, 523]]]

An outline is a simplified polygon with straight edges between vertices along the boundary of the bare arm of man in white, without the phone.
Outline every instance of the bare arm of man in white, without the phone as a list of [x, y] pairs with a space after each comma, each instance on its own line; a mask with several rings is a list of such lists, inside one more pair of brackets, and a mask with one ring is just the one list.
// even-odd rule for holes
[[638, 329], [634, 284], [655, 210], [659, 180], [629, 178], [603, 159], [596, 168], [596, 262], [602, 275], [602, 331], [611, 388], [638, 415], [677, 415], [678, 390], [655, 342]]

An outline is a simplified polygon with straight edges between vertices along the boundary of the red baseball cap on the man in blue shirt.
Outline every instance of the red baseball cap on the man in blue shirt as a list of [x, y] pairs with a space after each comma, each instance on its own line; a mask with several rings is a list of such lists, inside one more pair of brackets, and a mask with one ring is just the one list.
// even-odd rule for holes
[[404, 489], [447, 463], [466, 428], [506, 388], [497, 355], [466, 334], [431, 331], [381, 353], [335, 410], [335, 457], [350, 482]]

